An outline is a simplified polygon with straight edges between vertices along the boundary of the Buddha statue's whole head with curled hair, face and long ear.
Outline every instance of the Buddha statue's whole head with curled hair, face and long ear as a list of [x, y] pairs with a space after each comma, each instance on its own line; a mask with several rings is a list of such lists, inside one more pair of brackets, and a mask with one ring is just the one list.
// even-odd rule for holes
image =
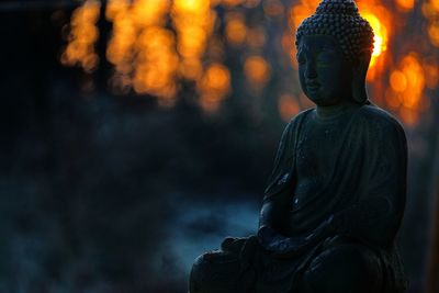
[[373, 31], [353, 0], [323, 0], [297, 29], [302, 90], [317, 105], [368, 103], [365, 75]]

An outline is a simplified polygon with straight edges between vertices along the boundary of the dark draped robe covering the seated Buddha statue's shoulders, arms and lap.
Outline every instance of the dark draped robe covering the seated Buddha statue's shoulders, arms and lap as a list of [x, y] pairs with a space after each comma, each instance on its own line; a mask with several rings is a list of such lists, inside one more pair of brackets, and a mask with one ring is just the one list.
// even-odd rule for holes
[[[222, 250], [200, 257], [192, 274], [193, 279], [202, 274], [204, 284], [191, 284], [191, 293], [300, 293], [303, 271], [334, 236], [374, 252], [384, 280], [382, 293], [404, 291], [395, 250], [406, 199], [402, 126], [378, 106], [358, 106], [342, 117], [331, 151], [325, 154], [334, 158], [334, 166], [309, 189], [313, 192], [305, 190], [299, 196], [297, 166], [307, 164], [300, 156], [301, 148], [307, 147], [306, 123], [313, 114], [315, 110], [300, 113], [283, 132], [264, 191], [258, 236], [227, 238]], [[227, 289], [222, 291], [222, 285]]]

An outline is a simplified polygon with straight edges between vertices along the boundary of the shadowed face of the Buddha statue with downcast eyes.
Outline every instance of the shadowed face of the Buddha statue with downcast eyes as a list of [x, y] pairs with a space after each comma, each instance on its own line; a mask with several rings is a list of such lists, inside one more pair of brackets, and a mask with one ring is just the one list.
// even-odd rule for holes
[[335, 38], [303, 36], [297, 52], [302, 90], [317, 105], [334, 105], [351, 99], [352, 66]]

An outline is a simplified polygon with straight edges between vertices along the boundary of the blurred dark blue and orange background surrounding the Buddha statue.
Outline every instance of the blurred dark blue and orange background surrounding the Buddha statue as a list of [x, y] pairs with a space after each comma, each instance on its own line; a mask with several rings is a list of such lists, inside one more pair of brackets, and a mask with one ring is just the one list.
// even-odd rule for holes
[[[371, 100], [408, 138], [408, 292], [436, 293], [439, 1], [357, 3]], [[198, 255], [255, 233], [283, 127], [313, 106], [291, 56], [317, 4], [1, 1], [0, 292], [185, 292]]]

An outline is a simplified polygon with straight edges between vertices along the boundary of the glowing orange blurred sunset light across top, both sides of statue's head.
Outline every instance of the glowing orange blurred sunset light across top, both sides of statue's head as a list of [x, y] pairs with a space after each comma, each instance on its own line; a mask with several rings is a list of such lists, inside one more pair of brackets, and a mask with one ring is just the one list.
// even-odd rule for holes
[[[238, 65], [243, 80], [250, 92], [260, 94], [279, 70], [273, 66], [273, 57], [263, 54], [264, 49], [278, 46], [277, 54], [295, 56], [293, 32], [318, 3], [319, 0], [297, 0], [288, 8], [280, 0], [110, 0], [104, 7], [105, 18], [112, 23], [106, 46], [106, 59], [114, 66], [110, 88], [120, 94], [156, 97], [159, 104], [169, 106], [175, 104], [182, 82], [191, 82], [200, 106], [212, 112], [234, 90], [233, 74], [224, 65], [226, 50], [233, 47], [246, 52]], [[392, 52], [399, 37], [397, 25], [404, 23], [417, 2], [395, 0], [397, 10], [381, 0], [358, 0], [357, 4], [375, 34], [368, 81], [381, 93], [376, 101], [393, 109], [407, 124], [414, 124], [428, 104], [423, 97], [425, 89], [434, 90], [439, 83], [438, 65], [421, 59], [420, 49], [398, 55]], [[427, 40], [439, 47], [439, 0], [419, 7], [426, 20]], [[277, 43], [268, 44], [273, 32], [263, 22], [251, 22], [245, 9], [259, 9], [268, 20], [289, 16], [291, 31], [279, 32], [279, 37], [273, 38]], [[72, 13], [68, 44], [61, 55], [64, 65], [80, 66], [87, 72], [97, 68], [99, 56], [94, 47], [100, 10], [100, 1], [88, 0]], [[279, 56], [288, 68], [282, 58]], [[296, 68], [294, 57], [292, 66]], [[296, 77], [290, 79], [290, 83], [299, 84]], [[280, 115], [290, 116], [307, 105], [303, 99], [299, 91], [281, 94]]]

